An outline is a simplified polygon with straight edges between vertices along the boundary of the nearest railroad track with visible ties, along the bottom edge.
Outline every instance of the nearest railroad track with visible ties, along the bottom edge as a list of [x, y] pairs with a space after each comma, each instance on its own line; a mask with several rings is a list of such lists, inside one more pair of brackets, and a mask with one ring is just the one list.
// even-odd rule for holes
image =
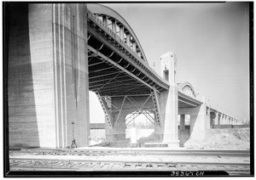
[[249, 175], [249, 165], [181, 162], [124, 162], [96, 160], [10, 159], [10, 171], [168, 171], [168, 172], [228, 172], [231, 176]]

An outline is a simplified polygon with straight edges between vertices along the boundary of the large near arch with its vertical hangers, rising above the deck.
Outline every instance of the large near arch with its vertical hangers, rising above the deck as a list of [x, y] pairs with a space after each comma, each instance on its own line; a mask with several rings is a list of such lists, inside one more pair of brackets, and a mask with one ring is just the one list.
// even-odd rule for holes
[[[131, 29], [131, 26], [126, 22], [126, 20], [120, 14], [115, 12], [112, 8], [108, 8], [106, 6], [103, 6], [101, 4], [96, 4], [96, 3], [88, 3], [87, 8], [89, 8], [89, 10], [93, 14], [96, 14], [98, 17], [101, 17], [102, 19], [104, 16], [107, 16], [107, 23], [109, 20], [112, 21], [112, 23], [115, 22], [115, 25], [119, 31], [121, 31], [121, 29], [124, 28], [124, 29], [122, 29], [122, 31], [124, 32], [125, 37], [120, 37], [120, 38], [121, 39], [123, 38], [122, 40], [125, 40], [125, 38], [126, 38], [126, 42], [128, 42], [128, 41], [129, 41], [129, 43], [131, 42], [133, 50], [138, 54], [138, 56], [141, 59], [143, 59], [143, 61], [145, 61], [148, 64], [146, 55], [143, 52], [143, 48], [142, 48], [135, 32]], [[104, 21], [104, 20], [102, 20], [102, 21]], [[116, 29], [114, 32], [116, 32]], [[129, 40], [128, 40], [128, 38], [129, 38]]]

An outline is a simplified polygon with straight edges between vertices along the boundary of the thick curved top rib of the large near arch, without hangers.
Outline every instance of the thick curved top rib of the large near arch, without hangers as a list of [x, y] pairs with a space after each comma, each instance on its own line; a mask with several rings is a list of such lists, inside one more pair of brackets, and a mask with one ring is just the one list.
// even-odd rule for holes
[[143, 52], [143, 48], [138, 41], [138, 38], [134, 31], [132, 31], [131, 26], [126, 22], [126, 20], [117, 12], [115, 12], [112, 8], [108, 8], [106, 6], [103, 6], [101, 4], [96, 3], [88, 3], [87, 8], [93, 13], [93, 14], [104, 14], [108, 15], [109, 18], [115, 19], [118, 21], [117, 24], [123, 25], [125, 27], [125, 33], [130, 34], [132, 38], [134, 38], [138, 51], [142, 53], [142, 59], [148, 64], [148, 60], [146, 58], [145, 53]]

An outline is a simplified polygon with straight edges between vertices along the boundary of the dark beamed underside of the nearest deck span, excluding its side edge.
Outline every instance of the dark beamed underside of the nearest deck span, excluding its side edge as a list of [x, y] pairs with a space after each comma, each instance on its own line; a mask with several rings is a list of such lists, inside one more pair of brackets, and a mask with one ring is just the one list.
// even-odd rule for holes
[[[89, 50], [89, 90], [101, 95], [148, 94], [150, 88]], [[114, 55], [112, 59], [117, 59]], [[119, 58], [118, 58], [119, 59]], [[127, 66], [120, 62], [120, 66]]]

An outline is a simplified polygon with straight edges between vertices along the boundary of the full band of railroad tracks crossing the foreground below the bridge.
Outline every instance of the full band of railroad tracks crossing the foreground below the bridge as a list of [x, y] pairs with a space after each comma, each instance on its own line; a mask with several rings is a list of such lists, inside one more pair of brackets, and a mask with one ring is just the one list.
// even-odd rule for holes
[[[248, 176], [250, 175], [249, 155], [247, 150], [16, 149], [9, 152], [9, 167], [10, 171], [201, 171], [202, 173], [224, 171], [233, 176]], [[180, 156], [185, 157], [185, 161], [175, 158]], [[162, 160], [158, 160], [157, 157], [161, 157]], [[204, 161], [196, 161], [200, 158]], [[236, 158], [245, 161], [236, 161]], [[230, 162], [230, 159], [233, 161]]]

